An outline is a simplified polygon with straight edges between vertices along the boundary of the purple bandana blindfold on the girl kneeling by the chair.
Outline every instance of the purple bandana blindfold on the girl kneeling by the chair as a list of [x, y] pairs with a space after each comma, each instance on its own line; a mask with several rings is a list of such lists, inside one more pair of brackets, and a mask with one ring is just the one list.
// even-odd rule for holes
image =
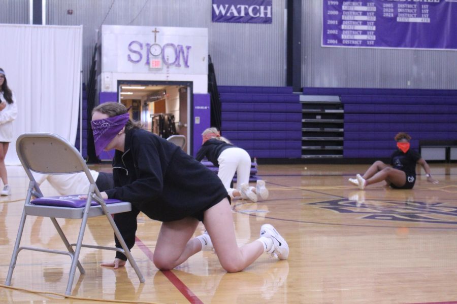
[[95, 154], [99, 156], [103, 149], [116, 137], [129, 119], [128, 113], [91, 121]]

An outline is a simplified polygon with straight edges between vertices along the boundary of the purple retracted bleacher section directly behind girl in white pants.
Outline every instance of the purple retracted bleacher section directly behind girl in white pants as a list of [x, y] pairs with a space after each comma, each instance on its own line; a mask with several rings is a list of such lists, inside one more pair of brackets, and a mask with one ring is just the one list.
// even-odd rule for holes
[[301, 105], [290, 87], [219, 86], [222, 136], [251, 158], [301, 157]]

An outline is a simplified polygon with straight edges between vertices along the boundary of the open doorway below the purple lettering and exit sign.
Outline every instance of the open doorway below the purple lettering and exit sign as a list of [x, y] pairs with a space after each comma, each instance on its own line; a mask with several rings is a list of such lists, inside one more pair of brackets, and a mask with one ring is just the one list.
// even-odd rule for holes
[[183, 135], [183, 150], [192, 151], [192, 82], [132, 81], [117, 82], [118, 101], [130, 108], [131, 118], [143, 129], [162, 138]]

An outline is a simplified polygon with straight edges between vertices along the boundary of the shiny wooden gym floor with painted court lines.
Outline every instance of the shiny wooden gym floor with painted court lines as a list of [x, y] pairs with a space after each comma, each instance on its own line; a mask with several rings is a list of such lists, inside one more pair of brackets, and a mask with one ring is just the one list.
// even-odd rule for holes
[[[367, 168], [259, 165], [270, 198], [232, 204], [237, 240], [251, 242], [263, 223], [271, 223], [288, 241], [288, 260], [264, 255], [245, 271], [227, 274], [214, 252], [200, 252], [179, 268], [160, 272], [151, 261], [160, 223], [140, 214], [132, 252], [144, 284], [128, 264], [117, 271], [100, 267], [113, 260], [112, 252], [83, 248], [86, 274], [77, 272], [72, 290], [81, 299], [0, 287], [0, 302], [457, 303], [457, 165], [431, 164], [438, 185], [427, 183], [422, 171], [412, 190], [379, 183], [358, 191], [347, 179]], [[110, 166], [94, 169], [108, 172]], [[27, 186], [22, 167], [8, 172], [13, 195], [0, 198], [2, 284]], [[55, 195], [49, 184], [42, 189]], [[74, 242], [79, 221], [59, 222]], [[203, 231], [200, 225], [196, 234]], [[110, 245], [112, 235], [106, 219], [90, 219], [84, 242]], [[21, 244], [64, 250], [48, 218], [29, 217]], [[63, 293], [69, 268], [68, 256], [22, 251], [12, 286]]]

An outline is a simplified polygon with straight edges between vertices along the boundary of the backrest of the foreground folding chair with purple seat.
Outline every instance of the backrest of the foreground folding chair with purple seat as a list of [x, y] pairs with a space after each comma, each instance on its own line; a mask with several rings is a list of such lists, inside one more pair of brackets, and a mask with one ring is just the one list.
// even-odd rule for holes
[[[22, 134], [17, 138], [16, 152], [31, 181], [35, 181], [35, 178], [30, 170], [43, 174], [85, 172], [89, 182], [95, 184], [79, 151], [59, 135], [51, 133]], [[96, 193], [99, 194], [98, 189], [96, 189]]]

